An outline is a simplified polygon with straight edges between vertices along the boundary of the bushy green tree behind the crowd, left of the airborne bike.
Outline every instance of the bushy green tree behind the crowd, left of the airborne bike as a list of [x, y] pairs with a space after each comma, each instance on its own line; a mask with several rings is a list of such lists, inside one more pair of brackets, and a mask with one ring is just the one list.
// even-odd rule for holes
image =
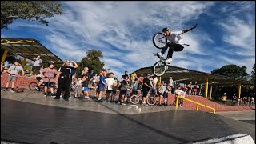
[[82, 58], [81, 62], [78, 63], [77, 73], [82, 74], [84, 67], [88, 67], [89, 70], [94, 70], [95, 74], [98, 74], [100, 71], [104, 70], [104, 62], [100, 61], [100, 58], [103, 57], [101, 50], [88, 50], [86, 52], [87, 56]]

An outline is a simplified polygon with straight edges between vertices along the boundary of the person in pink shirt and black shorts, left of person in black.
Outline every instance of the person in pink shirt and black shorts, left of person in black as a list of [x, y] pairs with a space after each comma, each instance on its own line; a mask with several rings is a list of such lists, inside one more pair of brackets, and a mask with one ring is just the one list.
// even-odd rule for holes
[[44, 91], [45, 97], [48, 95], [48, 87], [50, 87], [50, 96], [54, 96], [54, 79], [57, 79], [57, 70], [54, 69], [54, 62], [50, 61], [48, 63], [48, 67], [39, 70], [43, 84], [44, 84]]

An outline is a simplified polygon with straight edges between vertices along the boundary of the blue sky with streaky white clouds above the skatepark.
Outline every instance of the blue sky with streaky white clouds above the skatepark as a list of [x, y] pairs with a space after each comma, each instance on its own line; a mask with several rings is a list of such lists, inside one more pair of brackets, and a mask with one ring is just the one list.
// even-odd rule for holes
[[224, 65], [255, 62], [255, 2], [61, 2], [64, 13], [47, 18], [49, 26], [17, 20], [1, 37], [35, 38], [64, 61], [80, 61], [90, 49], [102, 50], [105, 68], [118, 78], [153, 66], [152, 43], [163, 27], [181, 31], [186, 46], [172, 65], [207, 73]]

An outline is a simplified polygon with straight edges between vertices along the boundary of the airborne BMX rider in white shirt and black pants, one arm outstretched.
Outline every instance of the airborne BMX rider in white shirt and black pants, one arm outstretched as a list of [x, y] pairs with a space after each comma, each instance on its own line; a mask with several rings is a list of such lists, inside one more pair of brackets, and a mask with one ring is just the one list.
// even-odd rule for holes
[[190, 30], [193, 30], [197, 26], [198, 26], [198, 23], [196, 25], [194, 25], [193, 27], [191, 27], [190, 29], [182, 30], [181, 32], [178, 32], [178, 33], [171, 32], [170, 28], [168, 28], [168, 27], [163, 28], [162, 32], [166, 34], [167, 45], [166, 45], [166, 47], [162, 48], [161, 52], [157, 53], [158, 58], [162, 58], [162, 55], [166, 53], [166, 50], [169, 47], [170, 49], [168, 51], [167, 58], [166, 58], [165, 62], [167, 64], [170, 64], [170, 62], [172, 61], [174, 51], [182, 51], [184, 48], [184, 46], [182, 46], [182, 38], [180, 35], [188, 32]]

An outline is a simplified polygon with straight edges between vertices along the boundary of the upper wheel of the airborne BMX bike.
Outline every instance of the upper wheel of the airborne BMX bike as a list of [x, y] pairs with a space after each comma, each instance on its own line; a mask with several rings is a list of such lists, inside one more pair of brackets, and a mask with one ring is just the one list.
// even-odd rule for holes
[[154, 34], [153, 44], [158, 49], [162, 49], [166, 47], [166, 44], [167, 44], [166, 34], [163, 34], [163, 33]]

